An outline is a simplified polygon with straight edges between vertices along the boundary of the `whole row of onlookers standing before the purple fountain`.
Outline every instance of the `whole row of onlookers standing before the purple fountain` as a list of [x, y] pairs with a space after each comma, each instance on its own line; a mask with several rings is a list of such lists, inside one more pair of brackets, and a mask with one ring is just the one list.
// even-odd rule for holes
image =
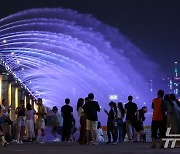
[[[37, 112], [31, 104], [24, 105], [21, 100], [16, 108], [16, 122], [9, 118], [10, 109], [7, 107], [7, 100], [2, 100], [0, 106], [0, 136], [2, 146], [6, 146], [8, 140], [17, 144], [23, 144], [24, 136], [28, 141], [45, 143], [45, 120], [47, 115], [46, 107], [42, 99], [37, 100]], [[180, 134], [180, 102], [174, 94], [166, 94], [159, 90], [157, 98], [152, 101], [152, 146], [156, 148], [157, 140], [160, 142], [160, 148], [164, 147], [162, 138], [165, 138], [167, 127], [171, 127], [171, 133]], [[61, 135], [62, 142], [77, 141], [79, 144], [98, 145], [104, 142], [104, 135], [101, 123], [98, 121], [98, 112], [101, 108], [94, 100], [94, 94], [90, 93], [77, 101], [76, 112], [79, 116], [79, 136], [75, 139], [75, 133], [78, 131], [73, 114], [73, 107], [70, 106], [70, 99], [65, 99], [65, 105], [60, 109], [53, 107], [53, 127], [51, 130], [54, 136], [53, 141], [60, 141], [57, 134]], [[117, 142], [124, 142], [125, 135], [129, 142], [146, 142], [143, 122], [147, 107], [138, 109], [137, 104], [133, 102], [133, 96], [128, 96], [128, 102], [124, 105], [122, 102], [117, 104], [113, 101], [109, 103], [109, 110], [104, 109], [104, 115], [107, 115], [107, 145], [116, 145]], [[36, 120], [35, 116], [37, 117]], [[13, 127], [12, 127], [13, 126]], [[13, 131], [15, 127], [15, 131]], [[41, 137], [40, 137], [41, 136]], [[139, 138], [138, 138], [139, 136]], [[7, 141], [6, 141], [7, 140]]]

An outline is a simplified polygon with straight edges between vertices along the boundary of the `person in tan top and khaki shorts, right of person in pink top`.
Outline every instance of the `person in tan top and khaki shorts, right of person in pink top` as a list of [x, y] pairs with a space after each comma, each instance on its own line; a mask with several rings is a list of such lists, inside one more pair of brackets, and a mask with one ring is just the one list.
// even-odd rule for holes
[[[47, 114], [46, 108], [43, 105], [42, 98], [38, 98], [38, 112], [36, 113], [38, 118], [35, 123], [35, 135], [36, 135], [36, 142], [37, 143], [45, 143], [44, 136], [45, 136], [45, 116]], [[41, 130], [42, 134], [42, 142], [39, 142], [39, 134], [38, 131]]]

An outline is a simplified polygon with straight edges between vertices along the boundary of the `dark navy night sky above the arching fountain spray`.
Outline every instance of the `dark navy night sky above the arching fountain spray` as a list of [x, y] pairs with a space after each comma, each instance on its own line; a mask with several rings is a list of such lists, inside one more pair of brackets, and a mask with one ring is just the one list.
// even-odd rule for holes
[[167, 75], [180, 61], [180, 0], [0, 0], [0, 18], [38, 7], [92, 14], [118, 28]]

